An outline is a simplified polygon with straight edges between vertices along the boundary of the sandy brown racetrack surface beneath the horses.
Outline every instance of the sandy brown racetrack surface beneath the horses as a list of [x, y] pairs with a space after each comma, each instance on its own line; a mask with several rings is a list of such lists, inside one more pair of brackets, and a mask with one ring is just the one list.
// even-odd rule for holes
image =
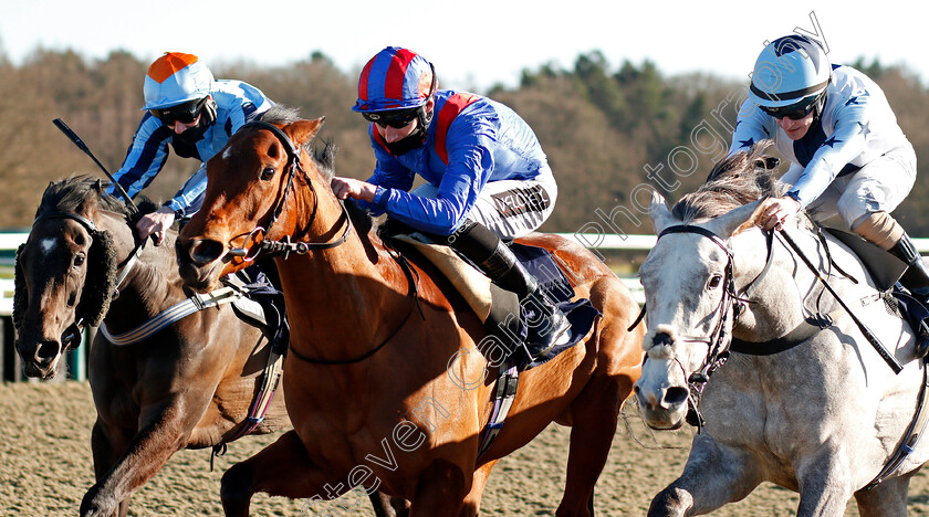
[[[93, 484], [91, 425], [95, 418], [90, 386], [0, 384], [0, 515], [77, 515], [81, 498]], [[628, 426], [616, 433], [595, 496], [597, 515], [641, 516], [648, 504], [683, 468], [692, 430], [651, 435], [633, 404]], [[481, 515], [553, 516], [564, 484], [568, 429], [551, 425], [532, 443], [498, 463], [484, 494]], [[631, 433], [630, 433], [631, 431]], [[223, 471], [276, 439], [246, 437], [229, 446], [210, 472], [209, 452], [181, 451], [133, 496], [133, 516], [218, 516], [219, 479]], [[796, 494], [771, 484], [729, 505], [716, 516], [789, 516]], [[346, 508], [358, 504], [357, 507]], [[325, 511], [324, 511], [325, 509]], [[352, 495], [304, 508], [304, 502], [258, 495], [255, 516], [374, 515], [366, 500]], [[857, 516], [854, 502], [846, 516]], [[929, 475], [910, 484], [909, 515], [929, 515]]]

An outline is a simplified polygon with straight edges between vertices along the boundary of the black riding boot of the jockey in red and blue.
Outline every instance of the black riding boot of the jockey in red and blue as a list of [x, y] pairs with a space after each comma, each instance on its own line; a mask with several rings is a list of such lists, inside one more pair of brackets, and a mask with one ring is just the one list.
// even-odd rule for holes
[[[535, 277], [519, 263], [513, 252], [487, 226], [467, 221], [443, 241], [467, 256], [500, 288], [519, 297], [529, 319], [526, 348], [535, 359], [555, 346], [559, 337], [571, 326], [567, 317], [539, 287]], [[493, 310], [491, 310], [493, 314]], [[519, 315], [515, 315], [519, 317]], [[499, 325], [499, 316], [488, 318], [486, 325]], [[511, 318], [512, 319], [512, 318]]]

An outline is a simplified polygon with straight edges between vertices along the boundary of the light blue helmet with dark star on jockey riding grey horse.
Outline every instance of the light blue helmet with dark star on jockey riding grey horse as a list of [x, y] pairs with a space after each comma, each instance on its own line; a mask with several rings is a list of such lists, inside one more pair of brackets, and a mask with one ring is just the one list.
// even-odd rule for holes
[[749, 98], [764, 108], [804, 104], [825, 92], [832, 65], [818, 43], [797, 34], [779, 38], [761, 51]]

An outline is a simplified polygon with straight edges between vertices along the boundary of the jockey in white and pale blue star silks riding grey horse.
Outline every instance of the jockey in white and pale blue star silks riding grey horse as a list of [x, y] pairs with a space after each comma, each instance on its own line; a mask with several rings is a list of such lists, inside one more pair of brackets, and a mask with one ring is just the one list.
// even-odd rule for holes
[[[787, 35], [759, 55], [749, 98], [739, 112], [730, 155], [773, 138], [792, 163], [783, 198], [765, 205], [765, 229], [806, 209], [845, 225], [908, 265], [900, 284], [923, 304], [929, 270], [890, 215], [916, 181], [916, 152], [880, 87], [862, 72], [831, 65], [818, 43]], [[918, 339], [929, 351], [929, 337]]]

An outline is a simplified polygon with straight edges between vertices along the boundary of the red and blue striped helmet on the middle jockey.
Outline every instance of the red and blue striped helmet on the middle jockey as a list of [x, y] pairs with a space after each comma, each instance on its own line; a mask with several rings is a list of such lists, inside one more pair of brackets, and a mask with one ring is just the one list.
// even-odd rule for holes
[[432, 65], [408, 49], [388, 46], [367, 62], [358, 77], [354, 112], [385, 112], [424, 106], [436, 89]]

